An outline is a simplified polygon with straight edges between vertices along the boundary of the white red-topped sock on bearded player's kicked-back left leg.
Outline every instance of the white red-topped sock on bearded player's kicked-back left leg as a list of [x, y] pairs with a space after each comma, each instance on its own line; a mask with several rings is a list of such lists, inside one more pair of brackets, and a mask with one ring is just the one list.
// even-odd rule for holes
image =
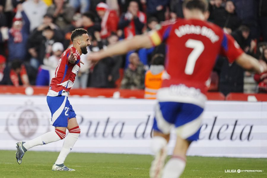
[[[37, 145], [44, 145], [51, 142], [56, 142], [58, 140], [64, 139], [66, 136], [66, 132], [55, 129], [55, 131], [47, 132], [35, 139], [32, 139], [28, 142], [23, 143], [23, 147], [28, 150]], [[24, 149], [23, 149], [24, 150]], [[24, 150], [25, 151], [25, 150]]]

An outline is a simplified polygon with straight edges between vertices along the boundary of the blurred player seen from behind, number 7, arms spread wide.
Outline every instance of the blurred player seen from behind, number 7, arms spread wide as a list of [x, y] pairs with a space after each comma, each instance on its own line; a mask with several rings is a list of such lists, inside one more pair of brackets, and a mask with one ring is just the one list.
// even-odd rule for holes
[[[207, 7], [205, 0], [186, 0], [183, 4], [185, 19], [164, 22], [158, 31], [134, 36], [89, 55], [91, 61], [97, 62], [107, 56], [166, 42], [167, 74], [157, 93], [152, 139], [155, 159], [150, 168], [151, 178], [177, 178], [184, 171], [187, 149], [192, 141], [198, 140], [206, 101], [205, 83], [217, 55], [224, 55], [230, 63], [236, 61], [247, 70], [257, 73], [267, 70], [266, 65], [245, 54], [219, 26], [206, 22], [209, 16]], [[166, 145], [173, 125], [177, 133], [176, 145], [171, 159], [164, 166]]]

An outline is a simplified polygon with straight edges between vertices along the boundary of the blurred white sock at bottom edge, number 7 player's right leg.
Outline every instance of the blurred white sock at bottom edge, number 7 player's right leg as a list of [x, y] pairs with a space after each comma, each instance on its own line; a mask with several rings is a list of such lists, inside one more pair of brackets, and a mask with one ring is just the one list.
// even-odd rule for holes
[[165, 165], [162, 178], [178, 178], [185, 170], [186, 160], [182, 156], [173, 156]]

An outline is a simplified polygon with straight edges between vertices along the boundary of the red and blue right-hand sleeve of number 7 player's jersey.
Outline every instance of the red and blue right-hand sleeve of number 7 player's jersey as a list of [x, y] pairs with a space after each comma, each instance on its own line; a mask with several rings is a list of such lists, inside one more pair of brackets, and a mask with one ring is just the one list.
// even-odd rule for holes
[[240, 48], [236, 40], [228, 34], [223, 34], [220, 54], [227, 57], [233, 63], [244, 51]]

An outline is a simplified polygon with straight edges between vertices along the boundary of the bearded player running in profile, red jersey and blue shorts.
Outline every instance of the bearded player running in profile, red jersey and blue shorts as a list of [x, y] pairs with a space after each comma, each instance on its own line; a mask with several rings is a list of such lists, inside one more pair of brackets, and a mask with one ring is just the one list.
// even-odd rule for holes
[[[87, 31], [82, 28], [75, 29], [71, 33], [73, 47], [66, 49], [58, 62], [55, 77], [47, 93], [47, 104], [51, 111], [50, 124], [55, 126], [55, 131], [43, 134], [28, 142], [18, 142], [16, 159], [21, 164], [24, 153], [37, 145], [48, 144], [64, 139], [58, 159], [52, 167], [52, 171], [75, 171], [64, 166], [64, 160], [71, 151], [80, 135], [80, 128], [76, 120], [76, 114], [69, 103], [68, 95], [76, 75], [80, 69], [80, 55], [87, 53], [87, 46], [91, 45]], [[82, 63], [83, 64], [83, 63]]]

